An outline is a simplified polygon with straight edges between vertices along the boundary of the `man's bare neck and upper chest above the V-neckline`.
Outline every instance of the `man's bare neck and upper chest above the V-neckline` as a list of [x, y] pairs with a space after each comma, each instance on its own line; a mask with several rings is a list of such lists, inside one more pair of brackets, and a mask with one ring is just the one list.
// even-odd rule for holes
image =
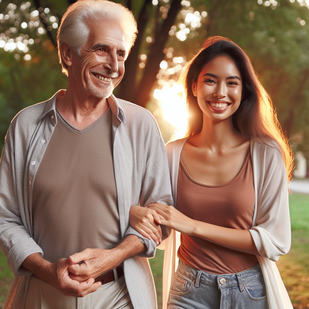
[[61, 91], [56, 99], [56, 107], [62, 116], [75, 128], [83, 130], [100, 118], [108, 109], [107, 99], [83, 94], [68, 89]]

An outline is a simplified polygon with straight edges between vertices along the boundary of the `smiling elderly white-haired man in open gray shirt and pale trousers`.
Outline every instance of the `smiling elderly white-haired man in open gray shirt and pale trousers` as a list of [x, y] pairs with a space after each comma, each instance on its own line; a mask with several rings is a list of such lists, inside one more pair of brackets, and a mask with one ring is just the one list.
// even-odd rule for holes
[[112, 95], [136, 31], [120, 4], [70, 6], [57, 36], [67, 90], [10, 125], [0, 244], [15, 279], [4, 308], [156, 308], [156, 243], [130, 227], [129, 209], [173, 203], [167, 155], [151, 114]]

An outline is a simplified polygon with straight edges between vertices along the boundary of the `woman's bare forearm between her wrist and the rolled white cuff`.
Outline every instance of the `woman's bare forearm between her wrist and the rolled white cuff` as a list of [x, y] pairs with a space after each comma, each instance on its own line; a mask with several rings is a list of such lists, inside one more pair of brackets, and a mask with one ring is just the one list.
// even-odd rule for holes
[[248, 230], [232, 229], [192, 220], [192, 236], [197, 236], [226, 248], [260, 255]]

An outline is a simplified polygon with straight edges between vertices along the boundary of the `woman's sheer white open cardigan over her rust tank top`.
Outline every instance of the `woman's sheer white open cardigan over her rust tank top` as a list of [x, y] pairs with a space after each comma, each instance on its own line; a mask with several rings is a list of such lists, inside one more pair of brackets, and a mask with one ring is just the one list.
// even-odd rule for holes
[[[168, 164], [175, 207], [180, 153], [188, 138], [168, 143]], [[271, 145], [271, 143], [270, 143]], [[269, 309], [293, 309], [275, 261], [290, 250], [291, 228], [286, 168], [277, 147], [251, 141], [251, 158], [255, 188], [255, 210], [249, 230], [261, 256], [256, 256], [265, 280]], [[159, 246], [164, 251], [163, 309], [178, 266], [180, 233], [171, 235]]]

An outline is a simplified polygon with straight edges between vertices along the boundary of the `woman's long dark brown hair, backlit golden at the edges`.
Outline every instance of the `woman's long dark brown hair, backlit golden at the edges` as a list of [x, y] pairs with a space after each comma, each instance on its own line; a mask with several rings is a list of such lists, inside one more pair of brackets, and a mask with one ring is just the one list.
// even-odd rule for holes
[[222, 55], [235, 62], [243, 79], [243, 98], [232, 116], [234, 127], [248, 139], [279, 146], [286, 166], [287, 180], [292, 180], [294, 154], [282, 132], [272, 100], [258, 80], [250, 57], [230, 39], [222, 36], [207, 38], [203, 47], [187, 62], [180, 74], [179, 83], [184, 87], [188, 107], [188, 129], [185, 137], [201, 132], [203, 126], [203, 112], [193, 95], [192, 80], [197, 81], [203, 66]]

